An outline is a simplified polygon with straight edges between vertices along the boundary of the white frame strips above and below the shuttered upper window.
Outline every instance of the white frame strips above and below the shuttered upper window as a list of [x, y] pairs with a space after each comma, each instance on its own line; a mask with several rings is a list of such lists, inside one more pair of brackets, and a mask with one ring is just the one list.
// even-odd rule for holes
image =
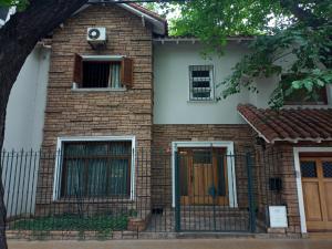
[[[81, 55], [82, 58], [82, 62], [108, 62], [108, 61], [115, 61], [115, 62], [121, 62], [124, 58], [126, 58], [125, 55]], [[73, 91], [76, 92], [123, 92], [126, 91], [126, 86], [123, 85], [122, 87], [118, 89], [114, 89], [114, 87], [77, 87], [76, 83], [73, 82]]]

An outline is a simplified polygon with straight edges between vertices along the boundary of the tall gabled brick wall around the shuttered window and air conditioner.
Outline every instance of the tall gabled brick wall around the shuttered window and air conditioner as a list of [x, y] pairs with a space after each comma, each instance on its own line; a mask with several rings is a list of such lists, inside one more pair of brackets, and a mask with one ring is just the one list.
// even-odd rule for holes
[[[135, 135], [137, 147], [148, 151], [152, 143], [152, 30], [141, 18], [121, 7], [93, 6], [64, 22], [53, 33], [51, 69], [43, 133], [43, 149], [55, 151], [60, 136]], [[89, 27], [105, 27], [107, 48], [94, 51], [86, 42]], [[134, 61], [134, 86], [124, 92], [72, 91], [74, 54], [126, 55]], [[148, 162], [148, 158], [145, 158]], [[144, 164], [149, 172], [149, 164]], [[39, 177], [52, 181], [54, 165], [44, 164]], [[149, 175], [149, 174], [147, 174]], [[39, 180], [41, 183], [41, 180]], [[144, 183], [144, 184], [143, 184]], [[144, 185], [144, 186], [143, 186]], [[149, 178], [137, 179], [149, 191]], [[40, 198], [51, 200], [52, 188], [38, 187]], [[142, 194], [143, 195], [143, 194]], [[149, 196], [149, 193], [144, 193]], [[145, 199], [146, 206], [149, 199]]]

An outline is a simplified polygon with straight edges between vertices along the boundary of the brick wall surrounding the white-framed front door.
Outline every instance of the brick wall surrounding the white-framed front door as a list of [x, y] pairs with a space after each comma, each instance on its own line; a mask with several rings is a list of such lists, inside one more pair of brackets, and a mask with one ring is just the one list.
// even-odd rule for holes
[[154, 125], [152, 163], [152, 201], [155, 207], [172, 203], [172, 142], [232, 141], [237, 154], [239, 206], [247, 205], [245, 153], [252, 151], [251, 131], [247, 125]]

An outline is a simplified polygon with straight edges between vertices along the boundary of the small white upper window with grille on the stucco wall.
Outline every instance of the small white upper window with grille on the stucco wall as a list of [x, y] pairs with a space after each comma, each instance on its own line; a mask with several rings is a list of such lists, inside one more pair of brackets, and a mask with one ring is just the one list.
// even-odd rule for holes
[[190, 65], [190, 101], [215, 100], [214, 66]]

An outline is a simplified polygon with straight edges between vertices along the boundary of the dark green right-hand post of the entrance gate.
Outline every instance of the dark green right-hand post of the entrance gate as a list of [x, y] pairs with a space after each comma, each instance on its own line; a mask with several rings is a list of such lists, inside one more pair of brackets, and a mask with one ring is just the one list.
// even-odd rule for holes
[[249, 230], [256, 231], [256, 210], [255, 210], [255, 198], [253, 198], [253, 186], [252, 186], [252, 158], [251, 154], [246, 155], [247, 163], [247, 176], [248, 176], [248, 199], [249, 199]]

